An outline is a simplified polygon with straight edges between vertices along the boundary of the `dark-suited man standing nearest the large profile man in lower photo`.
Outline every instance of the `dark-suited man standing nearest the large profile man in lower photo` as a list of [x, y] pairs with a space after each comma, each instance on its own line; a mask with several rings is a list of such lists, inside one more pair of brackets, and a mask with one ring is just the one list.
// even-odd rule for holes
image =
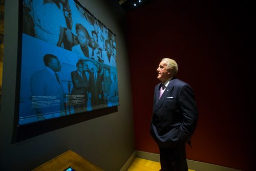
[[89, 87], [89, 81], [86, 74], [83, 72], [83, 62], [76, 63], [76, 71], [71, 72], [71, 78], [73, 83], [73, 89], [71, 91], [74, 109], [76, 113], [84, 111], [87, 107], [87, 90]]

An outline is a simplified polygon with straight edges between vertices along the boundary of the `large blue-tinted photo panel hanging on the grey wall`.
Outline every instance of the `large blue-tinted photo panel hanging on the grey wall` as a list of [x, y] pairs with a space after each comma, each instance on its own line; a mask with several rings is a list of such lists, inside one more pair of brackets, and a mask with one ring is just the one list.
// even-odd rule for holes
[[115, 34], [79, 2], [23, 0], [19, 120], [119, 105]]

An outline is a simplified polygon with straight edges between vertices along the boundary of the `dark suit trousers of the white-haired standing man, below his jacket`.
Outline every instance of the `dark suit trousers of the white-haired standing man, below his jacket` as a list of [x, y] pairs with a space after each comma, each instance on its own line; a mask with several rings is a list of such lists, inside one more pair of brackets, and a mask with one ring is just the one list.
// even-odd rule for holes
[[173, 148], [159, 146], [162, 171], [187, 171], [186, 144], [182, 143]]

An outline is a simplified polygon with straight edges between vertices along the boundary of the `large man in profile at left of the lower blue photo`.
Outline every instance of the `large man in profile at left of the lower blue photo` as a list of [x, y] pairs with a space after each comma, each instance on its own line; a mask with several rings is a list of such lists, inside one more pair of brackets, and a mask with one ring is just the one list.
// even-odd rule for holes
[[65, 94], [56, 72], [61, 70], [57, 56], [44, 56], [46, 68], [32, 74], [30, 87], [32, 109], [38, 120], [55, 118], [63, 115]]

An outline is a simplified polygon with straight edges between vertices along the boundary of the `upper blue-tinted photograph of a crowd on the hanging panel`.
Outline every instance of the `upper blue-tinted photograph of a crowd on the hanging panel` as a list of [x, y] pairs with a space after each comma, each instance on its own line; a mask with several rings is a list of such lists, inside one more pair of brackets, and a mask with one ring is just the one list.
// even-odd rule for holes
[[73, 0], [24, 0], [23, 33], [116, 68], [115, 35]]

